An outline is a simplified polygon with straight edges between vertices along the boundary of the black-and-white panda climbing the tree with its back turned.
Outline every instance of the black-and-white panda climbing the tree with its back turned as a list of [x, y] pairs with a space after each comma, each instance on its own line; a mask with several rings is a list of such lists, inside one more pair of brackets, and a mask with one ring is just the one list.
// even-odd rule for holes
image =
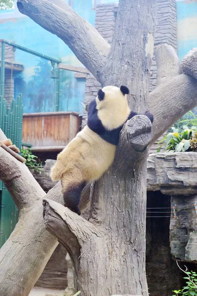
[[[79, 202], [84, 186], [98, 180], [115, 156], [124, 123], [137, 115], [131, 112], [126, 86], [105, 86], [88, 106], [85, 128], [58, 154], [51, 170], [52, 181], [62, 182], [64, 206], [80, 215]], [[153, 122], [153, 115], [145, 115]]]

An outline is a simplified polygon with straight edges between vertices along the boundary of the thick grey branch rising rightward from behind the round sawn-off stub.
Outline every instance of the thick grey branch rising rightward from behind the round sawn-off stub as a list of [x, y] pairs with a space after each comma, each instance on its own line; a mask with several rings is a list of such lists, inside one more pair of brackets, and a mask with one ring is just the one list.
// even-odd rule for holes
[[149, 95], [154, 115], [152, 144], [186, 112], [197, 106], [197, 79], [181, 74], [167, 79]]

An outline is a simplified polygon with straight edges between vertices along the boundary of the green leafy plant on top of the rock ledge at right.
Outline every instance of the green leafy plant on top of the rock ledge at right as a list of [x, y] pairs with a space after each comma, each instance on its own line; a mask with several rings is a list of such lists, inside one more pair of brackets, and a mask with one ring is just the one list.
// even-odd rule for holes
[[[180, 130], [175, 127], [171, 127], [172, 132], [168, 133], [158, 144], [165, 144], [165, 150], [167, 152], [186, 152], [191, 150], [191, 140], [197, 132], [197, 126], [184, 125], [183, 129]], [[160, 151], [162, 145], [158, 148], [157, 152]]]

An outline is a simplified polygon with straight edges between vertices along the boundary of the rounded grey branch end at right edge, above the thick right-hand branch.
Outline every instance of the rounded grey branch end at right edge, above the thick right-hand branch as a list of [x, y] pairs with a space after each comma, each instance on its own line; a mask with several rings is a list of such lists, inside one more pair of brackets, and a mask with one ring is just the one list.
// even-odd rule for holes
[[186, 54], [181, 63], [181, 70], [197, 79], [197, 47]]

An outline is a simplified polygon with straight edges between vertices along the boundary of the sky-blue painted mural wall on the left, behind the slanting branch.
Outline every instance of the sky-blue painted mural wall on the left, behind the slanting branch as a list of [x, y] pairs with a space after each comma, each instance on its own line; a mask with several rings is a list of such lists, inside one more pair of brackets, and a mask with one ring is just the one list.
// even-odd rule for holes
[[[95, 23], [94, 1], [67, 0], [72, 8], [92, 25]], [[106, 2], [106, 0], [105, 0]], [[0, 39], [14, 41], [29, 49], [43, 53], [73, 66], [83, 65], [77, 60], [68, 46], [57, 36], [47, 32], [22, 15], [16, 5], [12, 10], [0, 10]], [[23, 94], [24, 112], [55, 110], [55, 79], [51, 78], [52, 66], [49, 61], [16, 49], [15, 62], [24, 66], [24, 71], [14, 74], [15, 98]], [[85, 80], [74, 78], [69, 71], [60, 71], [59, 111], [82, 111]]]

